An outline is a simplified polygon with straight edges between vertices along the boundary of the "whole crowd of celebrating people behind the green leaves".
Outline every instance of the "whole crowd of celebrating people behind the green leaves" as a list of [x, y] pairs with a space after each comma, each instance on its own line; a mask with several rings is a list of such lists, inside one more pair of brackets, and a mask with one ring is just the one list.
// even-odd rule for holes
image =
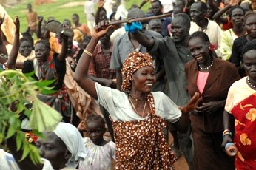
[[[41, 164], [20, 160], [10, 137], [1, 165], [175, 169], [183, 154], [189, 170], [255, 169], [254, 3], [142, 0], [126, 8], [124, 0], [87, 0], [87, 24], [77, 13], [57, 21], [28, 4], [24, 33], [18, 16], [10, 24], [1, 13], [1, 69], [54, 80], [54, 92], [38, 98], [63, 118], [33, 143]], [[137, 21], [118, 22], [127, 18]]]

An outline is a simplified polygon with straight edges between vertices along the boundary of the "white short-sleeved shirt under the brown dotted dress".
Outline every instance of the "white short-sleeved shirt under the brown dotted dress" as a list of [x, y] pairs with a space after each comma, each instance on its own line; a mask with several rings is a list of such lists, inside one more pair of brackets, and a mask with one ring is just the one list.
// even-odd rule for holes
[[[144, 120], [132, 109], [127, 94], [118, 89], [101, 86], [95, 82], [95, 88], [98, 94], [98, 103], [104, 106], [115, 121], [134, 121]], [[178, 106], [166, 96], [163, 92], [152, 92], [155, 101], [155, 112], [164, 120], [175, 123], [181, 117], [181, 110]]]

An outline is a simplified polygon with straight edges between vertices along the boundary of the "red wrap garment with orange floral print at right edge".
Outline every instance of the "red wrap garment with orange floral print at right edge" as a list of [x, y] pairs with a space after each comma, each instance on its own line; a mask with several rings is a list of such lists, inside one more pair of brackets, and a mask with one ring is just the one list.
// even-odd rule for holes
[[255, 169], [256, 167], [256, 93], [245, 98], [232, 109], [235, 117], [234, 143], [238, 147], [235, 157], [236, 169]]

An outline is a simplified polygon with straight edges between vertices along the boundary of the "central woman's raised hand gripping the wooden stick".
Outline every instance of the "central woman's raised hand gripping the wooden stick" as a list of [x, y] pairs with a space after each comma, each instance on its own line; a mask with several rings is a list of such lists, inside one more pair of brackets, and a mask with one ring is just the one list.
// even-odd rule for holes
[[97, 25], [95, 25], [94, 30], [92, 32], [92, 37], [101, 38], [106, 35], [109, 31], [112, 31], [113, 26], [108, 25], [108, 21], [101, 21]]

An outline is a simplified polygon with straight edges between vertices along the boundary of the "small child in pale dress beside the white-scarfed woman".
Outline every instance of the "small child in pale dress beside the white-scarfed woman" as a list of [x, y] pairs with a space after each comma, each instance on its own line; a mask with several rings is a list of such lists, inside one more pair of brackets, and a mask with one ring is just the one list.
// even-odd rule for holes
[[84, 144], [87, 155], [83, 162], [79, 163], [79, 170], [112, 169], [115, 161], [115, 143], [104, 140], [106, 132], [105, 121], [100, 115], [88, 115], [86, 120], [87, 135], [84, 137]]

